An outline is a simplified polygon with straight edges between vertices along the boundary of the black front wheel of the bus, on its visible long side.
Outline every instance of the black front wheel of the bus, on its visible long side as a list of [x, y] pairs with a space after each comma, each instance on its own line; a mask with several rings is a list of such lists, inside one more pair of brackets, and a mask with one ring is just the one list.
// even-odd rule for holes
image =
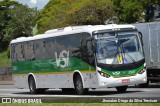
[[86, 94], [88, 92], [88, 88], [83, 88], [83, 82], [80, 75], [77, 75], [74, 80], [74, 87], [79, 95]]

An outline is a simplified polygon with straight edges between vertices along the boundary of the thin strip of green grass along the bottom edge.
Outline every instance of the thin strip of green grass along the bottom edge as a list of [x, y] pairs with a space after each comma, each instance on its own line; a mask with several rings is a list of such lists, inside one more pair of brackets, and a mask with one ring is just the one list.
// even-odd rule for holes
[[159, 106], [160, 103], [42, 103], [42, 104], [0, 104], [0, 106]]

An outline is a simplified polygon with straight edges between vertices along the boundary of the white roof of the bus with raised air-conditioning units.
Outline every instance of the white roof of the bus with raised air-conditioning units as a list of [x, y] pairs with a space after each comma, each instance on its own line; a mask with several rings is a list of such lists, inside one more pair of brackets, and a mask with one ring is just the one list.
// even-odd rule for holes
[[37, 39], [50, 38], [54, 36], [61, 36], [61, 35], [81, 33], [81, 32], [92, 33], [93, 31], [97, 31], [97, 30], [117, 29], [117, 28], [135, 29], [135, 27], [132, 25], [117, 25], [117, 24], [69, 26], [69, 27], [64, 27], [64, 28], [48, 30], [44, 34], [39, 34], [33, 37], [20, 37], [20, 38], [12, 40], [10, 43], [12, 44], [12, 43], [18, 43], [18, 42], [32, 41], [32, 40], [37, 40]]

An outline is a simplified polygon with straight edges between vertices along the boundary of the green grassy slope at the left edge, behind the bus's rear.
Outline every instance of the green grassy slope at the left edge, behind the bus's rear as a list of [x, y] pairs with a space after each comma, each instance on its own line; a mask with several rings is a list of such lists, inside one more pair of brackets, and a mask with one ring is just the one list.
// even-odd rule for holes
[[11, 66], [7, 51], [0, 53], [0, 68]]

